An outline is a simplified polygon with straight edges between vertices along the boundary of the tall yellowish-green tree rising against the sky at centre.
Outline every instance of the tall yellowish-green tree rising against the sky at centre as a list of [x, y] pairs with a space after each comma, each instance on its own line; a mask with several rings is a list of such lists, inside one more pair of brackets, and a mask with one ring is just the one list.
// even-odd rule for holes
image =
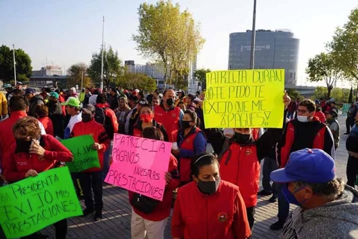
[[143, 3], [138, 15], [138, 34], [132, 36], [137, 50], [144, 57], [163, 64], [165, 84], [168, 72], [170, 80], [172, 75], [174, 79], [183, 75], [205, 42], [192, 15], [187, 10], [181, 12], [180, 6], [171, 1], [159, 1], [155, 5]]

